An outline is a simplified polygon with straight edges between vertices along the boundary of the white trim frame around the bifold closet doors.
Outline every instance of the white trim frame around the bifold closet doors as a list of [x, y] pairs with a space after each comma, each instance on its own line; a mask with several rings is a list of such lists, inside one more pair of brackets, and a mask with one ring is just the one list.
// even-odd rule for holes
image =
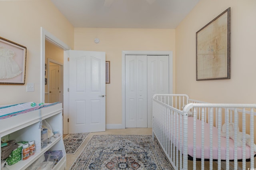
[[[122, 128], [125, 128], [125, 55], [169, 55], [169, 93], [173, 93], [172, 51], [122, 51]], [[171, 66], [171, 67], [170, 67]]]

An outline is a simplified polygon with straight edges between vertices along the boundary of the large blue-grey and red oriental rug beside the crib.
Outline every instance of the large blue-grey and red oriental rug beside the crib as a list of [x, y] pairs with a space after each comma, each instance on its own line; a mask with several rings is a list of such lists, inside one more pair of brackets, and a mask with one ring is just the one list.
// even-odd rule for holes
[[93, 135], [70, 170], [172, 170], [152, 135]]

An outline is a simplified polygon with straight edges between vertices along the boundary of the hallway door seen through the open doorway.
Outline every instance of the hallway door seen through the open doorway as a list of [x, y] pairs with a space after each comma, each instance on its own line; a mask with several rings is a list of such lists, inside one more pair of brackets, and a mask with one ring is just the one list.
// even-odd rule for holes
[[[52, 63], [50, 63], [52, 64]], [[58, 102], [59, 100], [59, 66], [50, 65], [49, 69], [49, 103]]]

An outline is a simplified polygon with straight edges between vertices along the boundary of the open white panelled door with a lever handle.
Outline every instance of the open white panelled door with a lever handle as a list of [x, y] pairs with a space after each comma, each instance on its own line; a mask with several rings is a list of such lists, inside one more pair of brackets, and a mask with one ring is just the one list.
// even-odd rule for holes
[[106, 55], [69, 51], [69, 133], [106, 130]]

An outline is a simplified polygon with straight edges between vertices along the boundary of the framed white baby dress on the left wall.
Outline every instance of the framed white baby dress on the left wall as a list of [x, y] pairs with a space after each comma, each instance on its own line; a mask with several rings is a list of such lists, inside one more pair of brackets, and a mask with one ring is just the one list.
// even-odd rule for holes
[[0, 84], [24, 85], [27, 48], [0, 37]]

